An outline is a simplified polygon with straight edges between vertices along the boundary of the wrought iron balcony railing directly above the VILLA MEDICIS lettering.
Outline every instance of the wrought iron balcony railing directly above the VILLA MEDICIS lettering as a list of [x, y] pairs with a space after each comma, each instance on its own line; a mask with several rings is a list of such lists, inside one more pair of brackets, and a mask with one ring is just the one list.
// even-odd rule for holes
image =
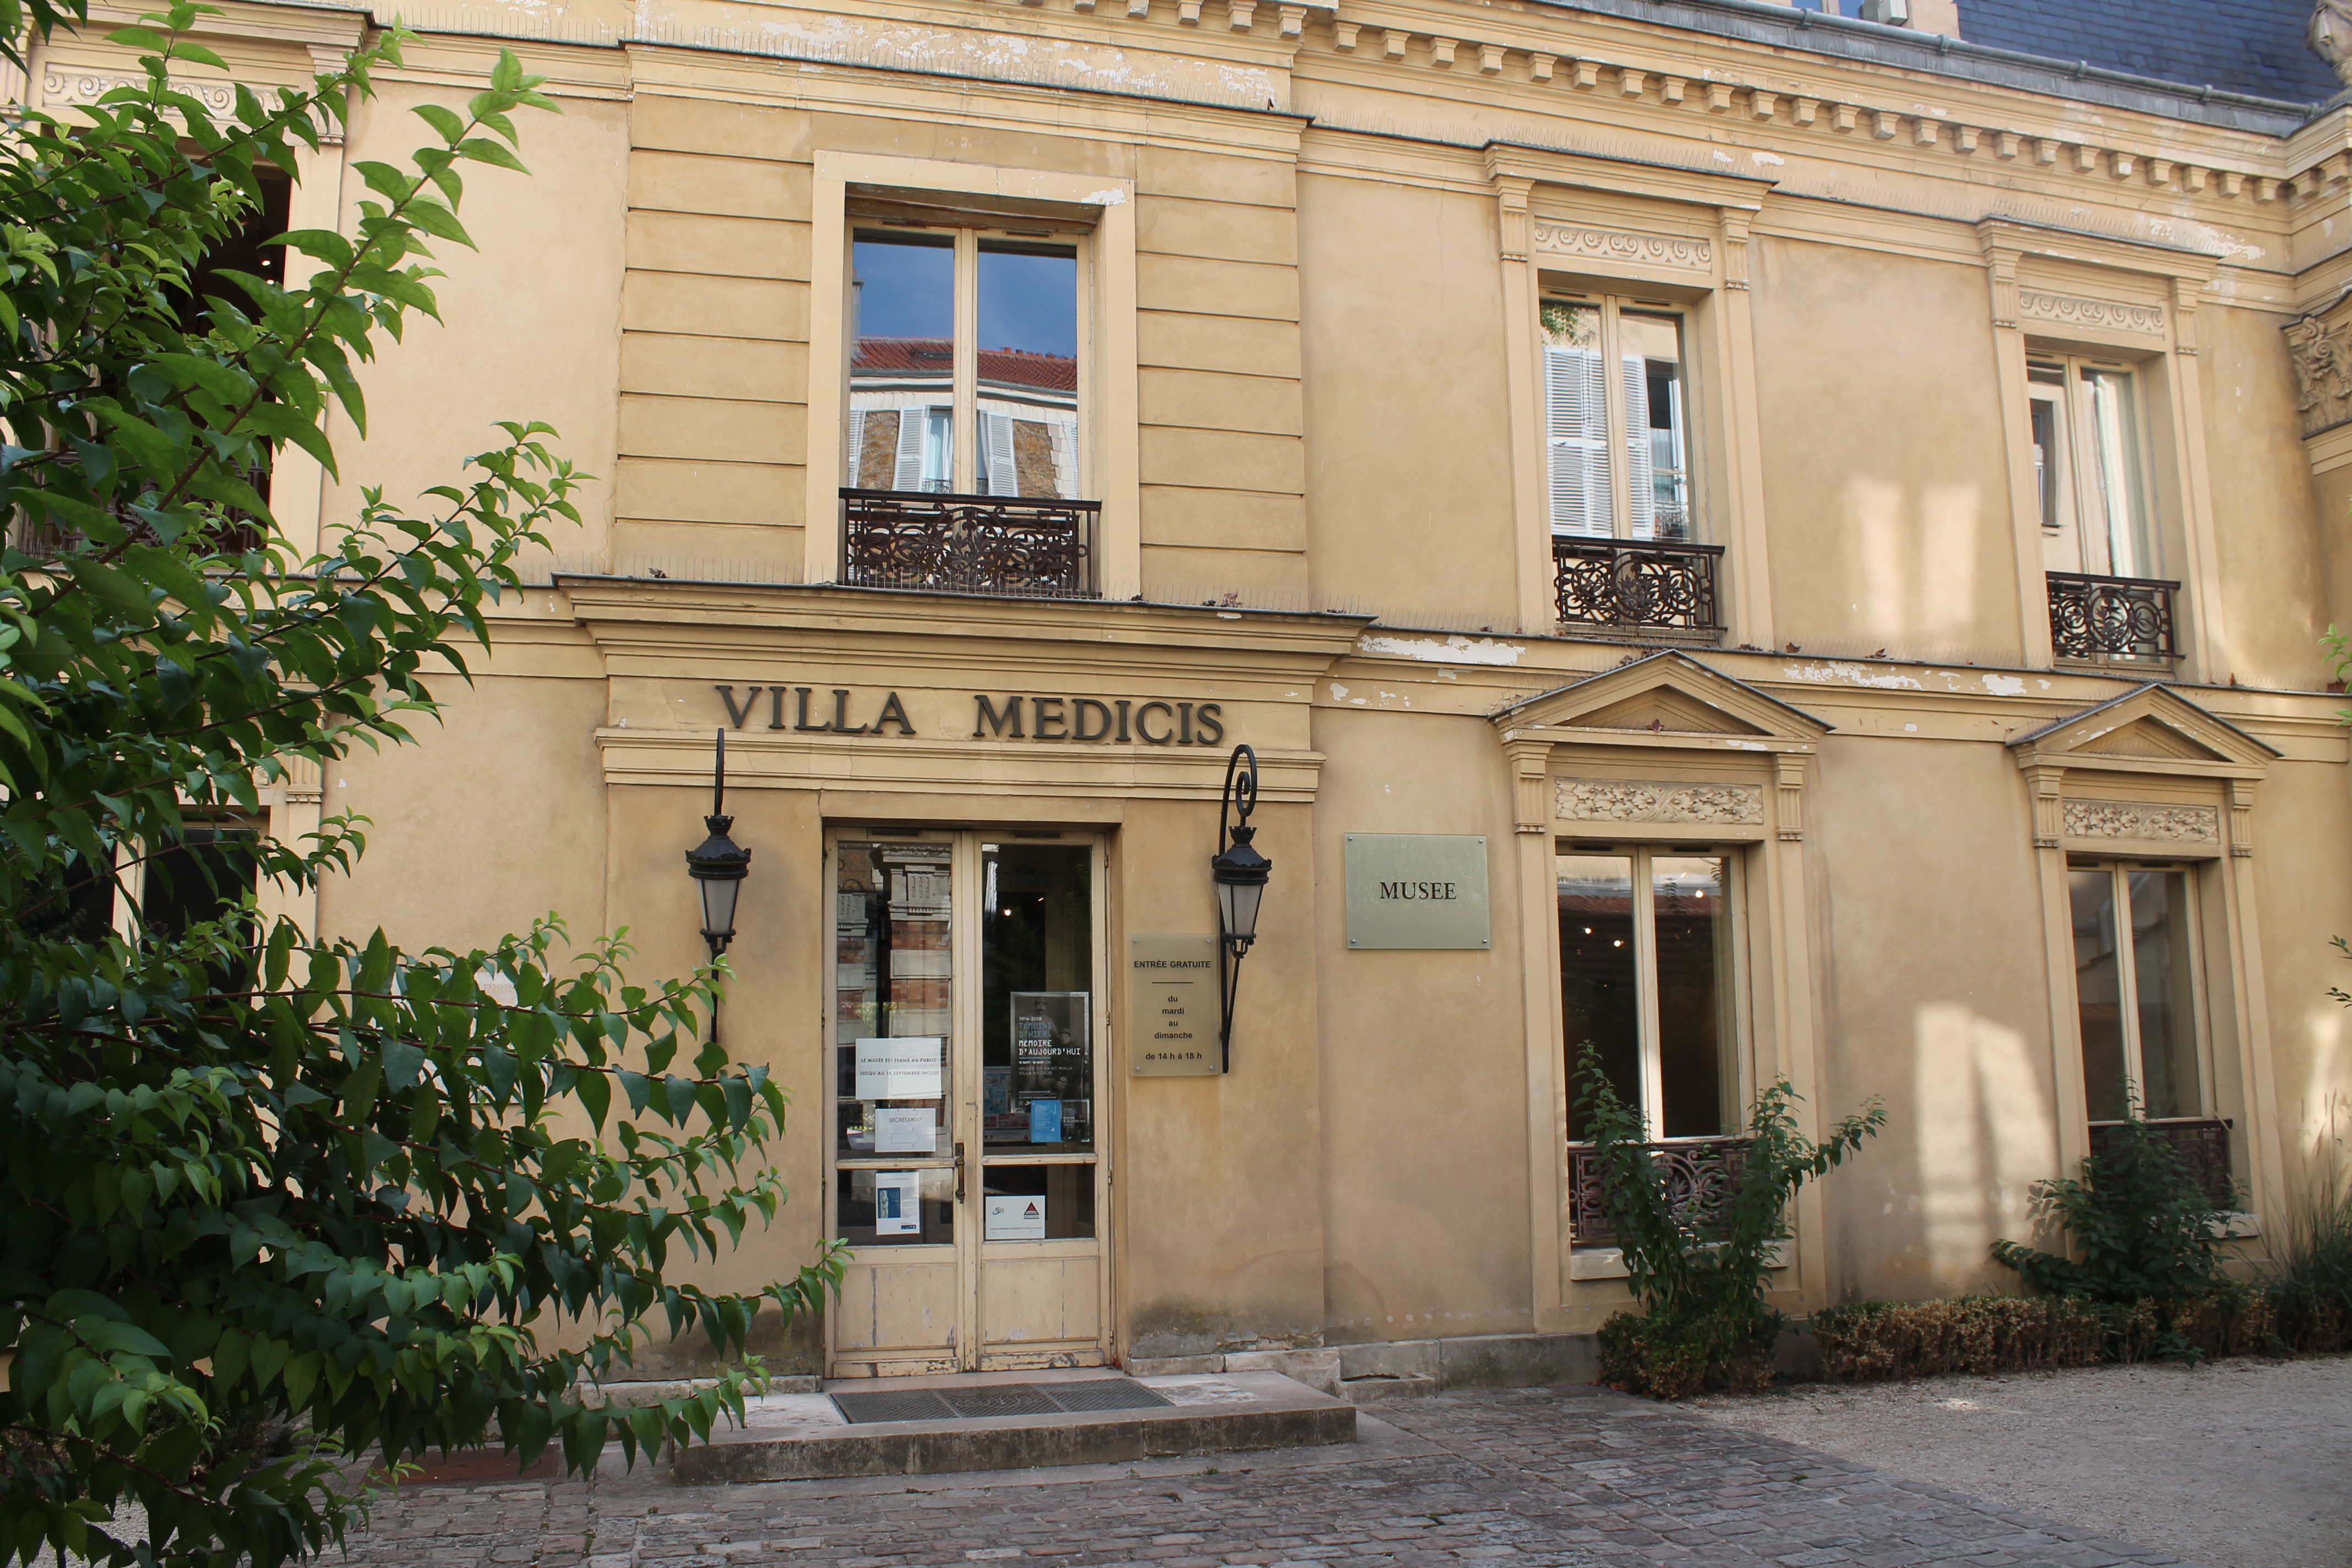
[[1091, 599], [1101, 501], [842, 491], [842, 583]]

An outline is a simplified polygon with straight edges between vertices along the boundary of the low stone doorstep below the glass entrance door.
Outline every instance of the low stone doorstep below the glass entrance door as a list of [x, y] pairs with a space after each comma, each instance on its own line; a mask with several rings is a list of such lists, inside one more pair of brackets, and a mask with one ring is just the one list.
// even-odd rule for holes
[[[1103, 1378], [1101, 1371], [962, 1373], [891, 1378], [894, 1389], [990, 1387]], [[1136, 1378], [1171, 1406], [971, 1420], [844, 1422], [823, 1394], [769, 1394], [748, 1401], [748, 1427], [715, 1427], [708, 1443], [670, 1462], [670, 1479], [821, 1481], [837, 1476], [927, 1476], [1037, 1465], [1131, 1465], [1183, 1453], [1310, 1448], [1355, 1441], [1355, 1406], [1279, 1373]], [[870, 1389], [880, 1380], [835, 1380]]]

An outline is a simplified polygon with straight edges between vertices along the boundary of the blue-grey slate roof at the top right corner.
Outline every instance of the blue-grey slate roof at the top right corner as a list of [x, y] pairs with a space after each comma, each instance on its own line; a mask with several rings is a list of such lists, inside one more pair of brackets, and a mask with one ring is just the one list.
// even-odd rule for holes
[[2319, 103], [2343, 89], [2303, 40], [2312, 0], [1959, 0], [1971, 45], [2185, 87]]

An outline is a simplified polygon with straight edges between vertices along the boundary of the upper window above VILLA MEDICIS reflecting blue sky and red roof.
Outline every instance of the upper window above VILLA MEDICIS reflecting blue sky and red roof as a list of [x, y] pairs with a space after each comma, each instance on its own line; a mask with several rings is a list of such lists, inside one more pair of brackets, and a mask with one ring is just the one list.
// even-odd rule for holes
[[1082, 494], [1077, 252], [1051, 233], [854, 230], [856, 489]]

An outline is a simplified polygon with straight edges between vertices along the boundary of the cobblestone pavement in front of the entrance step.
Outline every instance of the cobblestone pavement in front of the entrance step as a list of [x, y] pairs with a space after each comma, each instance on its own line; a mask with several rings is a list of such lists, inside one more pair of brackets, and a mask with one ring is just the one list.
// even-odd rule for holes
[[409, 1488], [346, 1561], [402, 1568], [1496, 1561], [1973, 1568], [2176, 1563], [1604, 1389], [1381, 1403], [1348, 1448], [1134, 1467], [668, 1486]]

